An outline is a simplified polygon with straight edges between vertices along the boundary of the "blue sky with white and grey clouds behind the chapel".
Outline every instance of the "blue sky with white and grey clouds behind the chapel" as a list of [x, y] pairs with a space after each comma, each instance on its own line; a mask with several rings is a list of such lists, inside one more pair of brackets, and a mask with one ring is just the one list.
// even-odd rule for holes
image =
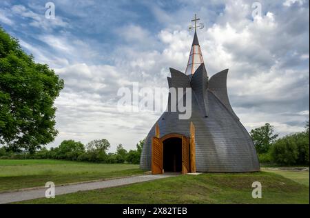
[[167, 88], [169, 67], [185, 71], [194, 14], [209, 77], [229, 68], [231, 105], [247, 130], [269, 122], [285, 135], [309, 119], [309, 1], [0, 1], [0, 25], [64, 79], [56, 99], [63, 139], [108, 139], [135, 148], [161, 112], [119, 112], [117, 92]]

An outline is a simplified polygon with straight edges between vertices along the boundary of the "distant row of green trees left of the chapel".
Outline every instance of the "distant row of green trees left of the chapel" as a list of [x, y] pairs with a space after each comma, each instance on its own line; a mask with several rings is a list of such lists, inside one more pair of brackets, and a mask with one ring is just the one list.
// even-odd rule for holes
[[41, 148], [36, 152], [12, 150], [9, 146], [0, 148], [0, 159], [63, 159], [87, 161], [103, 164], [139, 164], [145, 139], [136, 144], [135, 150], [127, 151], [118, 144], [116, 152], [107, 152], [110, 142], [107, 139], [93, 140], [84, 146], [81, 141], [64, 140], [56, 148]]

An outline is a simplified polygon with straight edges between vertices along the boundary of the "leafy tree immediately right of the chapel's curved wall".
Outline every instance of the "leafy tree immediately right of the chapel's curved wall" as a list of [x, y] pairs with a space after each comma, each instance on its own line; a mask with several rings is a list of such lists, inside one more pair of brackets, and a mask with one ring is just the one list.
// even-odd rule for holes
[[278, 134], [273, 133], [273, 126], [266, 123], [265, 126], [251, 130], [250, 135], [258, 154], [268, 152], [271, 144], [276, 140]]

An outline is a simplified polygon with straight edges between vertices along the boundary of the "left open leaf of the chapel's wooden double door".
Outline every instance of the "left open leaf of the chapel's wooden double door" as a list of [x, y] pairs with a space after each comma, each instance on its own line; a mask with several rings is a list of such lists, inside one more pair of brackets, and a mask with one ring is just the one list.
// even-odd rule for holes
[[158, 137], [152, 139], [152, 174], [163, 173], [163, 143]]

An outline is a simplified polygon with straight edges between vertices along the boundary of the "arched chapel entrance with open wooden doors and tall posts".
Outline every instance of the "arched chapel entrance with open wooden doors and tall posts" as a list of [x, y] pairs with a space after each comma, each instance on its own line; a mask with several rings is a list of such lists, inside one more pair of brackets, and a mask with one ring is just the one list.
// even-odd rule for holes
[[152, 174], [163, 172], [196, 172], [195, 128], [190, 125], [190, 137], [170, 133], [159, 137], [156, 123], [155, 137], [152, 138]]

